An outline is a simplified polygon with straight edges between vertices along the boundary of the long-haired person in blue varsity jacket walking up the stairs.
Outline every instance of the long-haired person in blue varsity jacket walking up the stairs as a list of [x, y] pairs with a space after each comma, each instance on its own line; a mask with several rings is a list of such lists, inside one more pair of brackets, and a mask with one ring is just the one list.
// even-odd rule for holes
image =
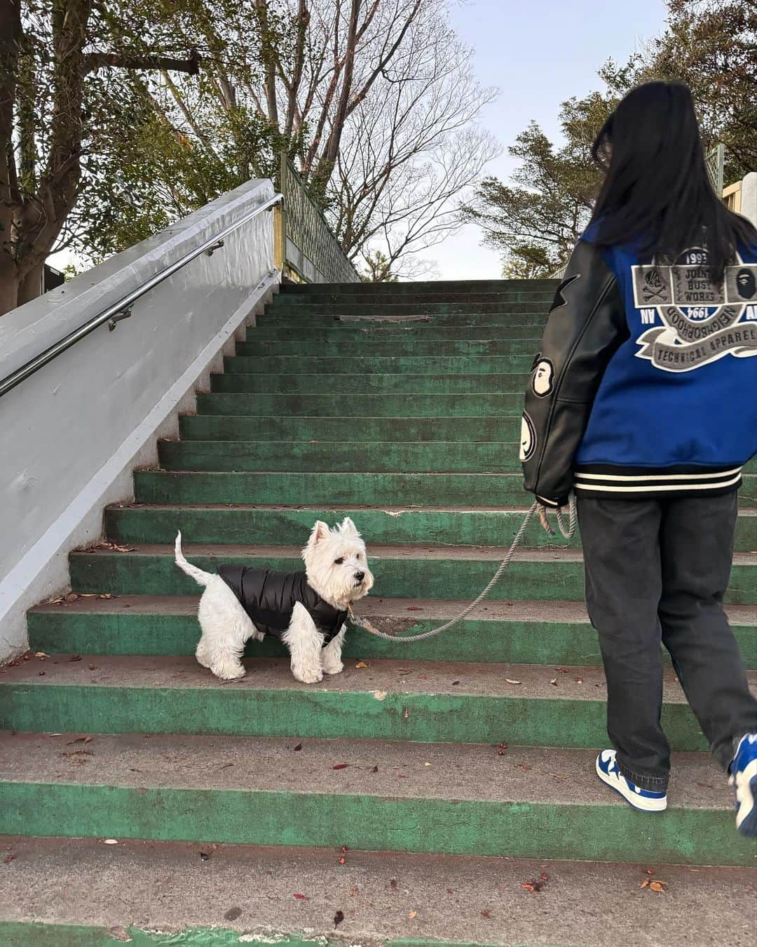
[[648, 82], [597, 135], [605, 172], [556, 294], [521, 424], [525, 486], [575, 491], [613, 749], [597, 776], [667, 805], [663, 658], [757, 835], [757, 700], [723, 610], [757, 454], [757, 230], [714, 193], [685, 85]]

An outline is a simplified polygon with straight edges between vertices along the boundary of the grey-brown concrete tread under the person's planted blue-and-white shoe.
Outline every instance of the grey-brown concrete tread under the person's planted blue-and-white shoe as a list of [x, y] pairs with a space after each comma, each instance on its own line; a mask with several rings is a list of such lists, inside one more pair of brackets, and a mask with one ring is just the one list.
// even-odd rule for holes
[[[93, 740], [85, 748], [91, 751], [92, 759], [78, 765], [61, 754], [72, 752], [66, 750], [67, 746], [83, 745], [69, 743], [79, 735], [79, 729], [60, 735], [0, 730], [0, 787], [63, 779], [79, 785], [391, 795], [416, 800], [485, 799], [625, 810], [625, 802], [610, 794], [596, 778], [593, 748], [509, 743], [500, 755], [498, 746], [472, 743], [418, 746], [410, 742], [304, 737], [302, 749], [295, 751], [298, 733], [285, 738], [255, 738], [156, 731], [146, 740], [138, 733], [89, 732]], [[294, 752], [301, 755], [295, 757]], [[224, 767], [224, 763], [234, 765]], [[340, 768], [335, 770], [335, 765]], [[404, 778], [398, 779], [397, 773]], [[547, 778], [550, 773], [562, 778]], [[730, 815], [733, 811], [728, 777], [709, 753], [678, 752], [672, 760], [668, 795], [671, 807]], [[338, 831], [344, 827], [335, 828]], [[243, 831], [241, 826], [238, 829]], [[7, 827], [0, 831], [12, 833]], [[732, 840], [736, 838], [734, 831]], [[549, 857], [547, 853], [545, 857]], [[757, 859], [757, 850], [754, 857]]]

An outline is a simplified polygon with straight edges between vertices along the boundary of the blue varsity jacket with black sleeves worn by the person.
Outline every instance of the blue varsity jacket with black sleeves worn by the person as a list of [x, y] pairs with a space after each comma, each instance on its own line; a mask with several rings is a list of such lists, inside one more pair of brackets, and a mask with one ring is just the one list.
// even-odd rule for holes
[[547, 506], [738, 489], [757, 453], [757, 247], [714, 285], [706, 254], [639, 259], [582, 237], [555, 293], [520, 431]]

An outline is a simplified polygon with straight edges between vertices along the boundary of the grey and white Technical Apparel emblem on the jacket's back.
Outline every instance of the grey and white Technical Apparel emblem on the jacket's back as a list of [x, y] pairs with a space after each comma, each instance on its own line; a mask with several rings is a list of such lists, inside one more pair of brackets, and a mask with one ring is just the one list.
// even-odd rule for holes
[[[726, 268], [714, 284], [707, 253], [692, 247], [671, 264], [631, 267], [634, 305], [644, 325], [636, 353], [662, 371], [694, 371], [732, 355], [757, 355], [757, 264]], [[661, 328], [659, 323], [661, 323]]]

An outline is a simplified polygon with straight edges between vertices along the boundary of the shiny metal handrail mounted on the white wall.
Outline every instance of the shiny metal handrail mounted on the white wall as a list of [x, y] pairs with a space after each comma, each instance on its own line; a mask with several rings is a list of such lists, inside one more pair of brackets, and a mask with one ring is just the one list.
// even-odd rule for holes
[[257, 205], [255, 210], [251, 210], [249, 214], [245, 214], [243, 217], [240, 217], [238, 221], [235, 221], [235, 223], [230, 223], [229, 226], [224, 227], [219, 233], [215, 234], [215, 236], [203, 241], [199, 246], [196, 246], [194, 250], [191, 250], [189, 253], [185, 254], [184, 257], [180, 257], [165, 269], [160, 270], [158, 273], [151, 276], [135, 290], [132, 290], [131, 293], [122, 296], [117, 302], [114, 302], [107, 309], [102, 310], [102, 312], [97, 313], [97, 315], [93, 315], [91, 319], [88, 319], [85, 323], [79, 326], [79, 329], [69, 332], [68, 335], [63, 336], [63, 338], [56, 342], [55, 345], [45, 348], [43, 352], [40, 352], [39, 355], [35, 355], [35, 357], [26, 362], [25, 365], [21, 366], [20, 368], [16, 368], [15, 371], [11, 372], [4, 379], [0, 380], [0, 397], [7, 394], [11, 388], [15, 388], [17, 384], [21, 384], [21, 382], [26, 381], [26, 379], [30, 375], [33, 375], [35, 371], [39, 371], [40, 368], [44, 367], [49, 362], [52, 362], [54, 358], [64, 352], [67, 348], [71, 348], [72, 346], [76, 345], [80, 339], [83, 339], [86, 335], [89, 335], [90, 332], [95, 331], [103, 323], [107, 322], [108, 328], [113, 331], [121, 319], [129, 318], [129, 316], [132, 314], [132, 306], [137, 299], [146, 293], [149, 293], [151, 289], [153, 289], [159, 283], [162, 283], [164, 279], [173, 276], [177, 270], [180, 270], [193, 259], [197, 259], [203, 253], [207, 253], [208, 256], [212, 256], [216, 250], [220, 250], [220, 248], [223, 246], [224, 237], [237, 230], [237, 228], [243, 223], [253, 220], [254, 217], [262, 213], [264, 210], [268, 210], [273, 207], [274, 204], [278, 204], [278, 202], [283, 200], [283, 198], [283, 194], [274, 194], [272, 198], [269, 198], [269, 200]]

